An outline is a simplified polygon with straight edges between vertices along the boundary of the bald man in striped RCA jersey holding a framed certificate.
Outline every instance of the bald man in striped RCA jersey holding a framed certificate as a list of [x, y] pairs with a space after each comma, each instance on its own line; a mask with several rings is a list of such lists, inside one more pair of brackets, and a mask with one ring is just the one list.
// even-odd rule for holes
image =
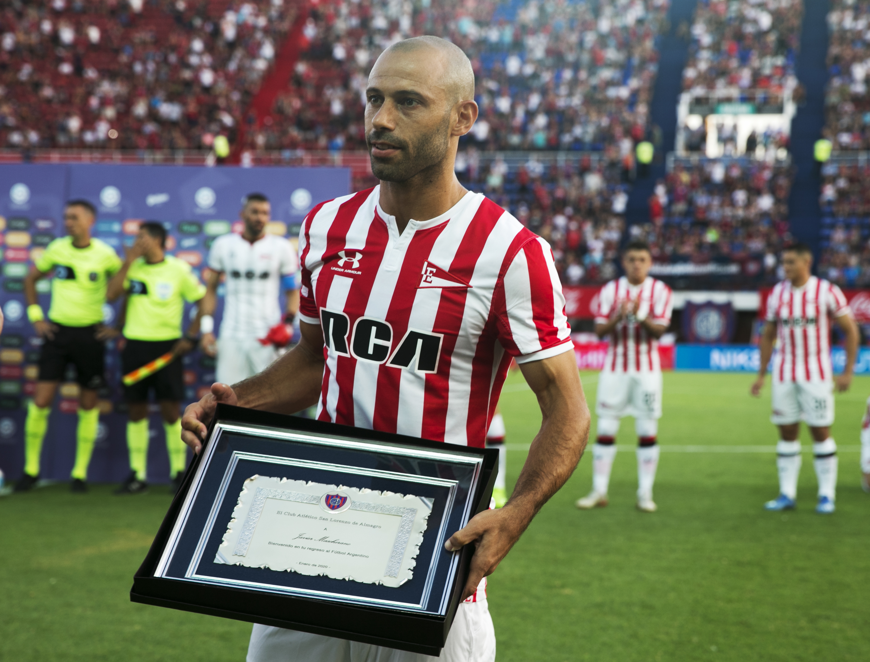
[[[516, 360], [543, 423], [505, 506], [438, 541], [444, 554], [475, 545], [464, 602], [438, 658], [446, 662], [495, 659], [485, 578], [571, 476], [589, 434], [549, 245], [453, 173], [459, 137], [478, 117], [473, 95], [472, 65], [452, 43], [416, 37], [378, 57], [365, 131], [381, 184], [305, 218], [302, 340], [253, 378], [213, 384], [183, 421], [197, 452], [218, 402], [266, 411], [317, 405], [320, 420], [483, 448]], [[412, 581], [424, 572], [418, 565]], [[436, 658], [254, 625], [247, 659]]]

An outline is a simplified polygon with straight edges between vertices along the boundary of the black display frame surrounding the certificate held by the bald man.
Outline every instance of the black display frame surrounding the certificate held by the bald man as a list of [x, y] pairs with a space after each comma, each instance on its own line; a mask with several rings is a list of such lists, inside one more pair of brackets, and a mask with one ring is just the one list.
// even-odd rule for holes
[[[183, 577], [179, 572], [173, 574], [171, 568], [180, 567], [180, 564], [184, 562], [187, 562], [191, 568], [196, 563], [200, 563], [193, 558], [191, 552], [184, 551], [186, 548], [183, 545], [185, 535], [192, 536], [196, 532], [202, 532], [201, 540], [209, 535], [204, 532], [204, 529], [200, 529], [195, 513], [204, 512], [205, 506], [210, 502], [212, 504], [211, 512], [217, 512], [216, 509], [221, 499], [227, 503], [235, 501], [236, 497], [232, 491], [227, 491], [223, 495], [219, 494], [213, 485], [214, 478], [209, 478], [209, 476], [212, 464], [217, 468], [211, 471], [211, 474], [217, 475], [218, 471], [222, 471], [218, 461], [210, 459], [217, 458], [220, 452], [226, 454], [226, 449], [221, 451], [220, 431], [237, 428], [239, 430], [256, 428], [259, 432], [248, 433], [250, 435], [248, 442], [255, 438], [266, 439], [267, 443], [270, 444], [272, 456], [276, 452], [285, 451], [288, 454], [298, 452], [298, 449], [305, 445], [305, 442], [300, 442], [297, 438], [293, 438], [292, 443], [287, 443], [285, 438], [269, 437], [269, 434], [278, 435], [279, 432], [285, 431], [291, 437], [293, 435], [307, 435], [309, 438], [328, 439], [332, 451], [335, 449], [342, 451], [343, 445], [348, 444], [356, 448], [355, 452], [365, 454], [365, 450], [360, 451], [359, 449], [367, 447], [365, 443], [370, 442], [373, 443], [372, 448], [378, 447], [381, 451], [386, 449], [385, 452], [391, 457], [397, 458], [397, 461], [404, 461], [409, 466], [412, 465], [412, 460], [407, 458], [420, 457], [422, 453], [425, 453], [426, 457], [429, 458], [442, 456], [444, 458], [465, 458], [462, 460], [465, 465], [475, 467], [467, 492], [463, 492], [465, 494], [464, 500], [458, 499], [455, 502], [450, 502], [453, 504], [451, 512], [447, 512], [448, 507], [445, 506], [441, 516], [444, 524], [440, 529], [432, 525], [427, 529], [427, 536], [435, 535], [434, 533], [430, 534], [430, 530], [438, 534], [437, 539], [432, 538], [433, 542], [428, 545], [432, 558], [430, 569], [432, 567], [445, 567], [445, 563], [452, 564], [453, 568], [452, 572], [446, 572], [446, 574], [438, 570], [441, 574], [436, 572], [434, 575], [430, 575], [428, 581], [432, 597], [428, 598], [428, 603], [425, 603], [428, 606], [383, 606], [379, 603], [367, 602], [370, 598], [365, 596], [348, 596], [344, 600], [336, 598], [335, 593], [330, 593], [331, 598], [319, 598], [307, 594], [288, 594], [275, 592], [275, 590], [244, 588], [239, 585], [215, 584], [197, 580], [193, 578], [195, 575], [189, 574]], [[235, 445], [244, 446], [245, 443], [248, 443], [245, 441], [245, 434], [242, 431], [228, 438], [231, 438]], [[448, 529], [446, 524], [449, 520], [445, 518], [452, 518], [453, 522], [459, 521], [461, 526], [464, 526], [468, 519], [489, 507], [497, 472], [498, 451], [446, 445], [427, 439], [255, 411], [231, 405], [218, 405], [218, 410], [206, 438], [203, 450], [188, 467], [181, 489], [172, 500], [169, 511], [151, 544], [151, 549], [133, 578], [131, 601], [227, 619], [273, 625], [339, 639], [350, 639], [426, 655], [439, 655], [456, 615], [462, 597], [462, 589], [468, 578], [473, 553], [473, 545], [466, 545], [459, 552], [452, 552], [452, 554], [444, 551], [445, 540], [457, 530], [454, 529], [453, 525]], [[354, 446], [355, 442], [362, 442], [362, 444]], [[216, 443], [217, 446], [215, 446]], [[210, 447], [212, 448], [211, 453], [209, 452]], [[319, 451], [322, 450], [319, 449]], [[203, 466], [204, 462], [205, 466]], [[448, 460], [445, 459], [445, 462]], [[425, 463], [419, 464], [424, 465]], [[443, 465], [439, 466], [442, 466], [443, 470]], [[229, 469], [226, 470], [227, 475], [230, 472]], [[411, 475], [410, 470], [409, 475]], [[465, 482], [468, 482], [467, 479]], [[463, 512], [454, 512], [460, 508], [463, 509]], [[187, 527], [191, 527], [190, 532], [188, 532]], [[219, 526], [215, 531], [218, 529]], [[421, 545], [420, 550], [422, 554], [423, 545]], [[176, 558], [175, 554], [179, 558], [178, 565], [173, 560]], [[170, 561], [167, 561], [167, 558]], [[189, 558], [193, 560], [189, 560]], [[449, 560], [445, 562], [444, 558], [449, 558]], [[203, 565], [211, 567], [211, 565], [204, 563]], [[218, 567], [223, 570], [238, 566]], [[421, 568], [419, 576], [423, 577], [425, 568], [418, 567]], [[257, 572], [259, 570], [261, 569], [247, 568], [244, 569], [244, 572]], [[273, 571], [264, 570], [262, 572]], [[288, 578], [301, 581], [298, 578], [302, 577], [295, 572], [278, 574], [282, 575], [282, 581], [288, 580]], [[415, 568], [414, 575], [416, 581], [418, 568]], [[432, 577], [436, 579], [433, 580]], [[310, 580], [309, 583], [318, 581], [312, 578], [308, 578], [308, 580]], [[216, 578], [215, 581], [222, 582], [224, 580]], [[225, 581], [229, 582], [231, 579]], [[326, 579], [324, 581], [334, 583], [341, 580]], [[356, 584], [355, 582], [345, 582], [345, 585]], [[351, 588], [358, 589], [358, 586], [351, 586]], [[287, 590], [301, 591], [302, 589], [291, 587]], [[379, 589], [366, 590], [372, 592]], [[388, 591], [391, 590], [393, 589], [388, 589]], [[374, 598], [371, 598], [371, 601], [374, 601]], [[432, 608], [432, 605], [436, 604], [439, 605], [437, 610]]]

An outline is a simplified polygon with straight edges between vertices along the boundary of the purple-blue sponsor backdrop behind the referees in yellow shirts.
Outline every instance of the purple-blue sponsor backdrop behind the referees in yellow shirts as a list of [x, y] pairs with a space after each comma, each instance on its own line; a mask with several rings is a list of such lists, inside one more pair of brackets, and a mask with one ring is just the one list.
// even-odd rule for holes
[[[0, 468], [17, 478], [23, 468], [23, 423], [27, 399], [37, 379], [40, 338], [27, 320], [23, 278], [43, 247], [64, 236], [67, 200], [84, 197], [97, 207], [94, 236], [123, 256], [138, 224], [156, 220], [169, 237], [167, 252], [204, 268], [215, 237], [241, 231], [243, 199], [252, 192], [271, 201], [268, 231], [296, 244], [305, 214], [319, 202], [351, 191], [346, 168], [205, 168], [164, 165], [0, 165], [0, 307], [6, 322], [0, 337]], [[40, 304], [49, 307], [50, 281], [38, 283]], [[223, 294], [223, 287], [218, 295]], [[223, 308], [219, 298], [215, 322]], [[106, 305], [111, 323], [117, 305]], [[190, 311], [190, 306], [188, 306]], [[75, 457], [78, 386], [73, 375], [61, 384], [43, 444], [42, 477], [69, 478]], [[100, 393], [100, 425], [89, 479], [120, 481], [128, 469], [125, 405], [121, 397], [120, 361], [110, 342], [106, 353], [108, 387]], [[199, 352], [184, 357], [185, 405], [201, 396], [214, 379], [214, 359]], [[152, 411], [148, 467], [151, 482], [169, 478], [163, 425]]]

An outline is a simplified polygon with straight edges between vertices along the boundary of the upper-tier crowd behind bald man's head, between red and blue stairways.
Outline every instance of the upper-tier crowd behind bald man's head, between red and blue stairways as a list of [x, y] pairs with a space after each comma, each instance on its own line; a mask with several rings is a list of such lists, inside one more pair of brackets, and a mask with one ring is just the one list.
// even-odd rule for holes
[[[486, 150], [605, 150], [632, 157], [648, 126], [667, 0], [398, 3], [337, 0], [312, 10], [310, 41], [258, 148], [360, 149], [371, 65], [390, 43], [436, 34], [471, 57]], [[269, 122], [271, 121], [271, 124]]]

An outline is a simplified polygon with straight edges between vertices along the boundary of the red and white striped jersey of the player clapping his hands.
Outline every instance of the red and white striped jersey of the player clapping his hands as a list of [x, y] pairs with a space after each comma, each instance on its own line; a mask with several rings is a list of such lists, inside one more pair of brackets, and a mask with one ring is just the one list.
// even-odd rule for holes
[[605, 371], [660, 371], [659, 341], [646, 332], [638, 319], [650, 318], [653, 324], [671, 324], [673, 296], [671, 288], [656, 278], [647, 276], [639, 285], [632, 285], [623, 276], [612, 280], [599, 292], [595, 323], [606, 324], [624, 301], [637, 302], [634, 319], [625, 318], [616, 325], [607, 347]]

